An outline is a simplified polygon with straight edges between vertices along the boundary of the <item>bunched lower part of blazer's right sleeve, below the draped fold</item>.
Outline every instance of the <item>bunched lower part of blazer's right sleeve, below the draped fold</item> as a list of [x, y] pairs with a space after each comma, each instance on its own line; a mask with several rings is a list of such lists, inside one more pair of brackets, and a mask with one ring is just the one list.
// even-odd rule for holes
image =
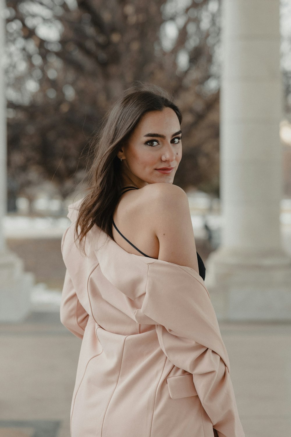
[[156, 331], [171, 363], [192, 373], [201, 404], [218, 436], [244, 437], [229, 371], [219, 354], [162, 325], [156, 325]]

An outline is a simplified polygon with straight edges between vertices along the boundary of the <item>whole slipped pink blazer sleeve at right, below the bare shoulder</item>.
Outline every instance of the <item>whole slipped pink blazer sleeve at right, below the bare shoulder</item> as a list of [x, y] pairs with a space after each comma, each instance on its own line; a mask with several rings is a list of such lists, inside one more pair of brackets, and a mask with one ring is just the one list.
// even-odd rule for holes
[[151, 267], [141, 311], [156, 321], [161, 349], [172, 364], [192, 373], [218, 436], [245, 437], [229, 358], [204, 281], [193, 269], [189, 274], [179, 266]]

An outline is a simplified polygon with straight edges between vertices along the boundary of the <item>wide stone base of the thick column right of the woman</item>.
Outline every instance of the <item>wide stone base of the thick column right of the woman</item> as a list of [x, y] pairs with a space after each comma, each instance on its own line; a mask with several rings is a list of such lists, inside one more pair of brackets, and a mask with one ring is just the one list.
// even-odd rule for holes
[[291, 321], [291, 257], [283, 250], [219, 248], [205, 268], [218, 320]]

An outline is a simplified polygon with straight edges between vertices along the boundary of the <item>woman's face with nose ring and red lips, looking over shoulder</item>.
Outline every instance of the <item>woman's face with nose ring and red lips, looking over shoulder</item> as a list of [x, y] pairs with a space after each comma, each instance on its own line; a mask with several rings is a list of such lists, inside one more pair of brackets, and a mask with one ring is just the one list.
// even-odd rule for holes
[[175, 111], [164, 108], [144, 114], [117, 156], [122, 157], [124, 184], [134, 183], [139, 188], [156, 182], [172, 184], [182, 157], [181, 128]]

